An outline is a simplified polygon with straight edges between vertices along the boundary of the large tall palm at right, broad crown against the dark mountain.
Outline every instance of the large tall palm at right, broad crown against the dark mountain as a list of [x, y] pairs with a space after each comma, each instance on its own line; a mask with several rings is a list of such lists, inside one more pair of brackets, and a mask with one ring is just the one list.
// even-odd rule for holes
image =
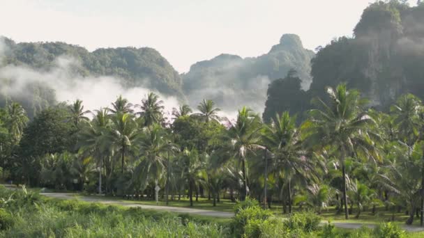
[[366, 101], [361, 100], [357, 90], [347, 90], [345, 84], [340, 84], [335, 90], [326, 88], [326, 92], [330, 104], [317, 99], [322, 109], [312, 109], [310, 120], [303, 125], [307, 135], [305, 145], [331, 148], [338, 154], [343, 177], [345, 218], [349, 219], [345, 159], [357, 153], [379, 159], [375, 142], [380, 138], [370, 130], [374, 120], [363, 111]]

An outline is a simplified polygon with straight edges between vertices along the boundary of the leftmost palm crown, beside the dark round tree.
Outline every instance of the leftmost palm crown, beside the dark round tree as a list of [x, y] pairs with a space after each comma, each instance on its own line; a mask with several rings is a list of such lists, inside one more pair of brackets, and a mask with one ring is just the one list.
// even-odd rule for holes
[[24, 127], [27, 125], [28, 117], [25, 109], [17, 102], [12, 102], [7, 106], [6, 127], [12, 134], [15, 141], [19, 141]]

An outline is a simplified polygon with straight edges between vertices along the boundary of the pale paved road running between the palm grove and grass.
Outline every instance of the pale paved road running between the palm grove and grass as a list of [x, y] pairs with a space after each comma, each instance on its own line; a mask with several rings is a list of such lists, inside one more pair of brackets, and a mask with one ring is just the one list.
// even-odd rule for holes
[[[40, 193], [43, 196], [48, 196], [51, 198], [61, 198], [61, 199], [73, 199], [75, 198], [76, 193]], [[197, 214], [202, 216], [214, 216], [214, 217], [222, 217], [222, 218], [231, 218], [234, 216], [234, 213], [232, 212], [218, 212], [218, 211], [208, 211], [208, 210], [202, 210], [202, 209], [194, 209], [194, 208], [185, 208], [185, 207], [165, 207], [165, 206], [156, 206], [156, 205], [143, 205], [139, 203], [123, 203], [116, 200], [107, 200], [106, 198], [93, 198], [93, 197], [84, 197], [79, 196], [79, 200], [84, 200], [86, 202], [93, 202], [93, 203], [103, 203], [103, 204], [110, 204], [110, 205], [121, 205], [125, 207], [142, 207], [143, 209], [155, 209], [160, 210], [164, 212], [178, 212], [178, 213], [185, 213], [185, 214]], [[321, 222], [322, 224], [327, 223], [326, 221]], [[337, 228], [348, 228], [348, 229], [358, 229], [361, 228], [363, 225], [368, 226], [369, 228], [374, 228], [375, 225], [372, 224], [363, 224], [363, 223], [338, 223], [338, 222], [332, 222], [333, 225]], [[418, 227], [418, 226], [402, 226], [404, 230], [407, 230], [408, 232], [422, 232], [424, 231], [424, 228]]]

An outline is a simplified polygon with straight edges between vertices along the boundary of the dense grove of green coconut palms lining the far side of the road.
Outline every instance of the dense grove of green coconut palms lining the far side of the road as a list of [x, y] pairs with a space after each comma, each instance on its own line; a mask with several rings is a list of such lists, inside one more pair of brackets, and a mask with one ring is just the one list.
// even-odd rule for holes
[[345, 84], [326, 93], [301, 123], [287, 112], [264, 123], [246, 107], [229, 121], [218, 116], [211, 100], [197, 112], [183, 105], [165, 118], [164, 103], [154, 93], [139, 105], [119, 97], [90, 119], [77, 100], [69, 106], [69, 122], [78, 129], [75, 151], [47, 155], [45, 174], [54, 174], [49, 171], [59, 168], [57, 161], [72, 164], [76, 154], [86, 159], [59, 177], [78, 175], [99, 193], [153, 197], [158, 186], [165, 200], [188, 196], [190, 205], [199, 196], [213, 205], [222, 197], [252, 196], [264, 207], [277, 200], [289, 213], [294, 206], [320, 213], [335, 205], [348, 219], [352, 212], [359, 217], [384, 207], [393, 214], [409, 212], [407, 223], [414, 216], [423, 219], [421, 100], [404, 95], [384, 113], [368, 109]]

